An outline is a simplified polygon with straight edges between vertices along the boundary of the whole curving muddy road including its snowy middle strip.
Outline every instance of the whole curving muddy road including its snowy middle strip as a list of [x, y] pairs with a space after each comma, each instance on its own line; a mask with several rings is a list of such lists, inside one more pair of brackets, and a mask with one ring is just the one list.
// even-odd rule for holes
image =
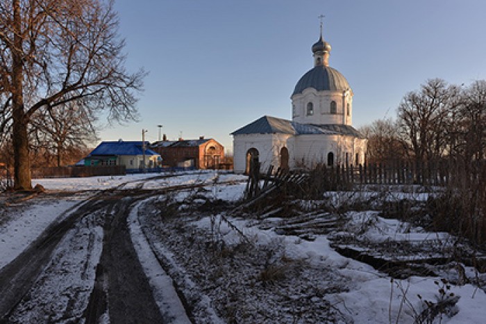
[[66, 211], [0, 270], [0, 323], [171, 323], [153, 298], [127, 216], [140, 200], [197, 186], [116, 188]]

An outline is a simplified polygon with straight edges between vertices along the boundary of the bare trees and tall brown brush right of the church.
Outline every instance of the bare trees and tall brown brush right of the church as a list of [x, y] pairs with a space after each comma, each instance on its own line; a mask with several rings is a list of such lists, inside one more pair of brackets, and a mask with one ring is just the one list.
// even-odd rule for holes
[[[430, 79], [408, 92], [396, 119], [363, 127], [371, 163], [412, 163], [446, 175], [440, 195], [428, 204], [435, 230], [467, 238], [478, 248], [486, 242], [486, 81], [469, 86]], [[393, 163], [393, 162], [391, 162]], [[436, 168], [439, 165], [440, 172]]]

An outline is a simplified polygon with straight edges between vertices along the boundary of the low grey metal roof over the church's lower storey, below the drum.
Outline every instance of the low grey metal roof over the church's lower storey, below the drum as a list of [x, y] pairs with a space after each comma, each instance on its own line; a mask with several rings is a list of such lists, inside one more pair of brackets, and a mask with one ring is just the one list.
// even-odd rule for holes
[[282, 118], [263, 116], [246, 126], [233, 131], [231, 135], [255, 133], [285, 133], [290, 135], [347, 135], [363, 138], [362, 134], [350, 125], [344, 124], [302, 124]]

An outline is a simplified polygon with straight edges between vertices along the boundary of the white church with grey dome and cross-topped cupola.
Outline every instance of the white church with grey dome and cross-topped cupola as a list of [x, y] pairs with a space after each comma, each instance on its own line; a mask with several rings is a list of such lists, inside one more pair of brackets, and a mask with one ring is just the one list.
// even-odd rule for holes
[[233, 131], [233, 169], [249, 172], [258, 162], [286, 170], [316, 165], [364, 163], [367, 140], [351, 126], [353, 90], [344, 76], [329, 66], [330, 44], [321, 35], [312, 45], [314, 67], [297, 82], [292, 120], [268, 115]]

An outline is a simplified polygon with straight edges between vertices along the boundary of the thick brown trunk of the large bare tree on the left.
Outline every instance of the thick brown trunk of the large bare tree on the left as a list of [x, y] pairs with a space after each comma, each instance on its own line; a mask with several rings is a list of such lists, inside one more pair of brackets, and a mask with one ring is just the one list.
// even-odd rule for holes
[[28, 156], [28, 119], [24, 112], [24, 67], [22, 63], [22, 21], [19, 0], [12, 0], [14, 47], [12, 49], [12, 144], [14, 156], [14, 189], [32, 188], [31, 163]]

